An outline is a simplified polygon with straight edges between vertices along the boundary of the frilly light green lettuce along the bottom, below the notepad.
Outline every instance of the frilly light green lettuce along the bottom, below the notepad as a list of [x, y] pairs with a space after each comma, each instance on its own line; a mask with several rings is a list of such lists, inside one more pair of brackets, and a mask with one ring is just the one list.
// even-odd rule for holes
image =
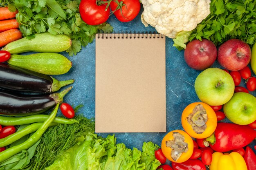
[[114, 135], [102, 138], [90, 134], [81, 139], [45, 170], [156, 170], [161, 164], [154, 155], [159, 146], [152, 142], [144, 142], [141, 152], [116, 144]]

